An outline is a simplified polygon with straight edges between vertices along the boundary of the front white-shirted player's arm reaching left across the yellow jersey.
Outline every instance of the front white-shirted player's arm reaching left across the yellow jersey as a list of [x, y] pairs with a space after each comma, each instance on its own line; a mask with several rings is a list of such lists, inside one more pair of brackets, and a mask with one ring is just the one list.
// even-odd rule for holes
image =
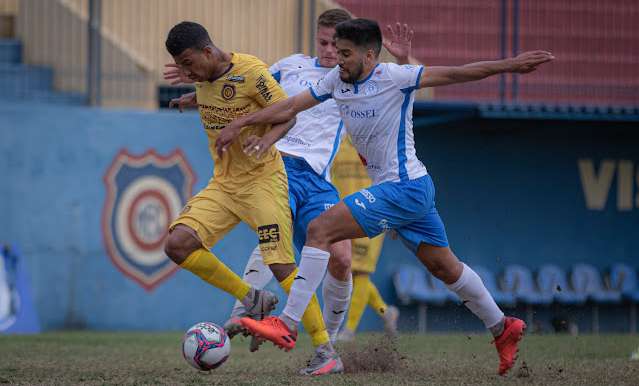
[[244, 126], [257, 124], [278, 124], [288, 122], [295, 118], [297, 113], [307, 110], [320, 101], [315, 99], [310, 90], [303, 91], [293, 97], [289, 97], [283, 101], [277, 102], [262, 110], [251, 114], [244, 115], [235, 119], [222, 129], [220, 135], [215, 141], [217, 154], [222, 157], [226, 148], [233, 143], [235, 138], [240, 134], [240, 130]]

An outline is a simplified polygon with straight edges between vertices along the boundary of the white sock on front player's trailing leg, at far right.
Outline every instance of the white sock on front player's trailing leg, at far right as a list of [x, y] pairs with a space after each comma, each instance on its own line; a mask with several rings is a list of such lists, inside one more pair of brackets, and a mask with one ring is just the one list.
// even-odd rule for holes
[[502, 321], [504, 313], [493, 300], [479, 275], [466, 264], [462, 263], [462, 265], [464, 268], [459, 280], [447, 287], [456, 293], [464, 305], [484, 322], [486, 328], [490, 329]]

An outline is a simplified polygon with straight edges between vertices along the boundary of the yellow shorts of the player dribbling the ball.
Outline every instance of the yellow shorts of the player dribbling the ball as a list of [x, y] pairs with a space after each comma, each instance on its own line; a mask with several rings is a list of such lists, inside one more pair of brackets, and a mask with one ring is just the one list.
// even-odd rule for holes
[[184, 224], [210, 249], [240, 221], [258, 235], [264, 264], [295, 263], [288, 182], [282, 166], [229, 193], [215, 180], [193, 196], [169, 229]]

